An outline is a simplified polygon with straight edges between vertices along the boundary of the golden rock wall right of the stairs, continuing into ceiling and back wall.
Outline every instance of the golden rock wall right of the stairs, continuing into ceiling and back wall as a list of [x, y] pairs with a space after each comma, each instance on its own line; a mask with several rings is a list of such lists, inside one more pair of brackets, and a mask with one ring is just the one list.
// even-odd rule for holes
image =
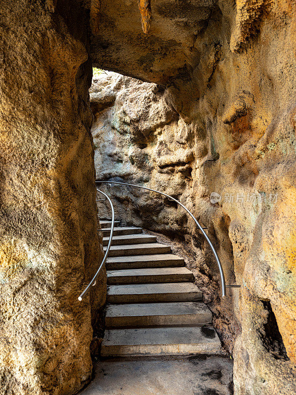
[[[109, 89], [101, 108], [95, 105], [100, 112], [95, 141], [102, 125], [110, 125], [103, 145], [111, 156], [102, 165], [98, 156], [99, 177], [121, 172], [126, 180], [166, 191], [209, 228], [227, 282], [242, 284], [232, 300], [213, 301], [225, 317], [217, 317], [216, 326], [228, 349], [227, 333], [236, 336], [235, 392], [291, 395], [296, 392], [295, 2], [152, 0], [151, 15], [144, 34], [136, 1], [105, 0], [98, 13], [91, 48], [95, 64], [162, 86], [151, 86], [139, 99], [135, 87], [124, 90], [129, 82], [123, 80]], [[108, 160], [112, 165], [106, 169]], [[214, 287], [206, 278], [215, 262], [181, 209], [169, 202], [163, 209], [160, 198], [151, 201], [116, 188], [112, 194], [122, 212], [126, 208], [156, 231], [191, 235], [184, 239], [197, 255], [201, 247], [205, 285]], [[212, 203], [212, 192], [221, 200]]]

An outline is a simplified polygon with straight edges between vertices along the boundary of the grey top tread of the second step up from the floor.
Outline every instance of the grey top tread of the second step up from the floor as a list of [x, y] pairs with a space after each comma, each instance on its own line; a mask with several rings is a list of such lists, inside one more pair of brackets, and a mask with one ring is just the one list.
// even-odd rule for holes
[[212, 313], [203, 302], [130, 303], [109, 305], [106, 310], [106, 317], [198, 314], [207, 314], [210, 318], [212, 317]]

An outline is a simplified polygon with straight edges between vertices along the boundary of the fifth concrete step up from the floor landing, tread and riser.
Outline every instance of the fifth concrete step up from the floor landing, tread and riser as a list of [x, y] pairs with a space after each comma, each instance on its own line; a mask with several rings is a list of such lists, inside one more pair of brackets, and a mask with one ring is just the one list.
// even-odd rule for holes
[[185, 262], [180, 256], [173, 254], [132, 255], [109, 257], [106, 262], [107, 270], [165, 268], [184, 266]]

